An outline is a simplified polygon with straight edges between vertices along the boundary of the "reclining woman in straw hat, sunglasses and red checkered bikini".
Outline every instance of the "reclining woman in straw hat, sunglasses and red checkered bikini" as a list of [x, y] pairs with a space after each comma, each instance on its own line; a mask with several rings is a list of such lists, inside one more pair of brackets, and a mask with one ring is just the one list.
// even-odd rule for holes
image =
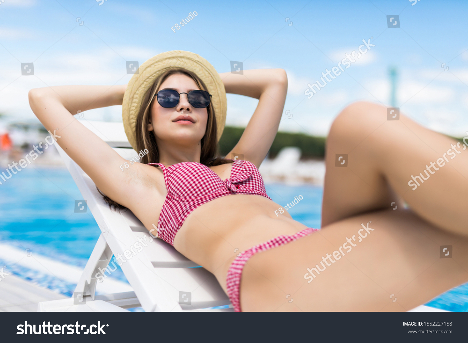
[[[259, 99], [232, 150], [242, 160], [216, 157], [224, 90]], [[212, 272], [236, 311], [405, 311], [467, 282], [466, 146], [403, 115], [387, 121], [385, 107], [351, 104], [327, 140], [322, 229], [309, 229], [278, 215], [256, 169], [286, 91], [282, 69], [218, 74], [196, 54], [170, 51], [128, 86], [38, 88], [29, 102], [110, 206], [153, 233], [158, 223], [157, 235]], [[148, 151], [123, 170], [128, 161], [71, 115], [121, 104], [129, 142]], [[451, 147], [461, 156], [415, 177], [413, 191], [413, 174]], [[440, 258], [444, 245], [453, 258]]]

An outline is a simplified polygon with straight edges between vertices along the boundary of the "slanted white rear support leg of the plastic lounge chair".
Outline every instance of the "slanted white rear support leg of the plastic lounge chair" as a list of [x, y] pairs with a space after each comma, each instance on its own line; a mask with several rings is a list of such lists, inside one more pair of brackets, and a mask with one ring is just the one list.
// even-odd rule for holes
[[81, 274], [80, 281], [76, 285], [73, 297], [75, 297], [75, 294], [80, 294], [82, 297], [90, 296], [92, 300], [95, 300], [96, 274], [105, 272], [112, 255], [112, 250], [110, 250], [104, 236], [101, 234], [88, 259], [83, 274]]

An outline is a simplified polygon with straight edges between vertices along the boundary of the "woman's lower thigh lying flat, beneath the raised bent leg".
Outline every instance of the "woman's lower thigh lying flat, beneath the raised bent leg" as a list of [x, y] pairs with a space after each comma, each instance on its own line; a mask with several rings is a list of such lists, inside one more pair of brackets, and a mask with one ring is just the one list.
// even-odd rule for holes
[[408, 311], [467, 282], [467, 271], [466, 237], [410, 210], [376, 211], [251, 257], [242, 273], [241, 308]]

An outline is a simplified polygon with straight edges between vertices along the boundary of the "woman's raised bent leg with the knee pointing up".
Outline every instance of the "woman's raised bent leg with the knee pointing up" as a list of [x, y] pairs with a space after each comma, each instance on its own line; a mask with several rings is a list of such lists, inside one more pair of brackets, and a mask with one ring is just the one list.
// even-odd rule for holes
[[[351, 104], [327, 139], [322, 227], [370, 210], [401, 209], [404, 200], [425, 220], [468, 234], [468, 149], [463, 148], [402, 114], [387, 120], [386, 107]], [[347, 157], [336, 166], [342, 154]]]

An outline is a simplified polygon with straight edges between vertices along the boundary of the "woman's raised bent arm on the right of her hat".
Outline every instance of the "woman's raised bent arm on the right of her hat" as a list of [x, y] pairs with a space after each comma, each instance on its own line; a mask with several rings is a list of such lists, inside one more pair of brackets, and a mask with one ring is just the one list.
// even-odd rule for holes
[[285, 106], [288, 79], [284, 69], [244, 70], [243, 75], [225, 72], [219, 74], [226, 93], [259, 99], [249, 124], [232, 152], [258, 168], [265, 158], [278, 132]]

